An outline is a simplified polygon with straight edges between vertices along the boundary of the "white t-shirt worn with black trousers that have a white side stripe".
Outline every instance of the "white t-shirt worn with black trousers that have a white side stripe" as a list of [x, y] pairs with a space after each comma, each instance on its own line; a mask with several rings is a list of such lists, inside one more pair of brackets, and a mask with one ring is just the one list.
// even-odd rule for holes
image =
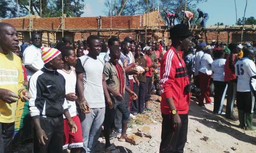
[[224, 81], [224, 66], [226, 59], [219, 58], [212, 62], [212, 72], [214, 81]]

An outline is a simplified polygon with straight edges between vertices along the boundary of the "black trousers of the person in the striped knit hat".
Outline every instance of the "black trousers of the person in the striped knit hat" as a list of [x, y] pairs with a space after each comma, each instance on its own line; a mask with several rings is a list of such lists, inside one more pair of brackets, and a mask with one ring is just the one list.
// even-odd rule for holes
[[48, 140], [44, 139], [45, 145], [38, 142], [36, 131], [34, 129], [34, 153], [62, 153], [64, 122], [63, 116], [56, 118], [46, 118], [40, 116], [41, 128], [47, 135]]

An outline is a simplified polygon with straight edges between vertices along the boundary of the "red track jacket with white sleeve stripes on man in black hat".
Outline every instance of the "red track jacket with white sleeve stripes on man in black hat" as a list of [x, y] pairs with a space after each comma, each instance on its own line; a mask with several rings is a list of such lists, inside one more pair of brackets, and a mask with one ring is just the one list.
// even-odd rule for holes
[[[160, 91], [161, 91], [161, 113], [170, 114], [171, 110], [166, 98], [172, 97], [177, 112], [187, 114], [189, 111], [190, 95], [184, 88], [189, 84], [189, 77], [186, 73], [186, 65], [182, 58], [183, 51], [178, 51], [180, 60], [175, 48], [171, 48], [164, 54], [160, 66]], [[182, 68], [183, 67], [183, 68]], [[185, 71], [184, 71], [185, 70]]]

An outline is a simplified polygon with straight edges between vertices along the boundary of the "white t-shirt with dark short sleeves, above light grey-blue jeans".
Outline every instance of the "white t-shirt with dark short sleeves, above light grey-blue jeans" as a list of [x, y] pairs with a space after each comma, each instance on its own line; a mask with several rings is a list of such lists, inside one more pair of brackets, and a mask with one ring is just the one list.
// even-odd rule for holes
[[93, 59], [88, 55], [79, 57], [76, 72], [83, 73], [84, 98], [90, 108], [105, 108], [105, 98], [102, 86], [104, 61]]

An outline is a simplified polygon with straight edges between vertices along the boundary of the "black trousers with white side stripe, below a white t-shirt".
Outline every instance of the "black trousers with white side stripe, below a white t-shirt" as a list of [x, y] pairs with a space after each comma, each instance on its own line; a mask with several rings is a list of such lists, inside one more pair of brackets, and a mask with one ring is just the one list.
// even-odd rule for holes
[[227, 82], [213, 81], [213, 83], [214, 83], [213, 113], [222, 113], [223, 101], [227, 91]]

